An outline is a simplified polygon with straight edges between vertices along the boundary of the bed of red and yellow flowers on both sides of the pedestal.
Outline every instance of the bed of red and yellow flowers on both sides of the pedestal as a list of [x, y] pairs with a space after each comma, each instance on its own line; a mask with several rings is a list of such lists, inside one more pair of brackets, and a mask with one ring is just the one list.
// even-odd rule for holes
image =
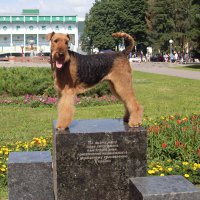
[[[183, 175], [200, 184], [200, 114], [144, 118], [148, 131], [148, 175]], [[11, 151], [52, 150], [52, 137], [33, 138], [0, 147], [0, 183], [6, 184]]]

